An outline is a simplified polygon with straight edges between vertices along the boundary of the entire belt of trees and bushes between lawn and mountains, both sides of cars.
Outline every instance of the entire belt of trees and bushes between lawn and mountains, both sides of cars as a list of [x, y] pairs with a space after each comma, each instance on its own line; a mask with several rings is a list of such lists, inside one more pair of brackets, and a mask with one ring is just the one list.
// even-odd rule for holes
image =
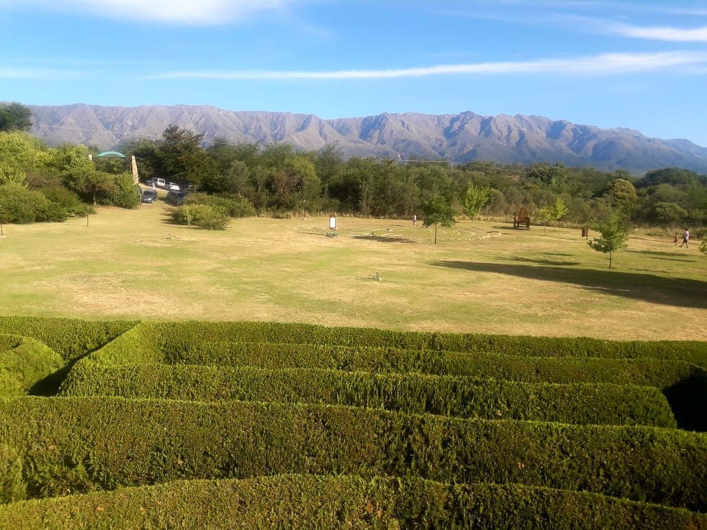
[[[0, 105], [0, 208], [7, 211], [13, 203], [21, 210], [28, 194], [42, 205], [35, 205], [34, 216], [20, 211], [14, 220], [60, 220], [84, 211], [85, 204], [139, 204], [124, 160], [92, 162], [88, 155], [96, 148], [68, 143], [49, 148], [24, 132], [31, 122], [23, 109], [14, 103]], [[524, 205], [533, 220], [541, 222], [595, 223], [619, 211], [626, 223], [671, 229], [707, 223], [707, 176], [677, 167], [636, 179], [622, 170], [561, 163], [403, 164], [386, 158], [346, 158], [336, 143], [317, 151], [298, 151], [288, 143], [206, 143], [202, 134], [177, 125], [168, 126], [159, 139], [130, 141], [117, 149], [136, 156], [144, 179], [162, 177], [193, 187], [212, 202], [216, 197], [222, 203], [237, 201], [236, 209], [246, 213], [411, 218], [435, 199], [444, 201], [454, 215], [472, 219], [512, 218]], [[8, 220], [8, 213], [4, 216]]]

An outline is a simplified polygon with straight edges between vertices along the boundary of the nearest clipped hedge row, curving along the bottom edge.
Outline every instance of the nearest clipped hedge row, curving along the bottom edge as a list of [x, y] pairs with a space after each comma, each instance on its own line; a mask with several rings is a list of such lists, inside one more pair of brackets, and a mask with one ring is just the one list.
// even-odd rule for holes
[[604, 495], [418, 478], [175, 481], [0, 506], [0, 526], [102, 528], [683, 528], [703, 514]]

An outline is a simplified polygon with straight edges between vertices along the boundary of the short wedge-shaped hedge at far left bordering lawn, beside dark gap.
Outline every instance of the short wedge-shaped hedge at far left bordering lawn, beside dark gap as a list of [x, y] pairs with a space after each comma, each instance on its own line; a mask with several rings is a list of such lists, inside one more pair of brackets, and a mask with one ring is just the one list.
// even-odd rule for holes
[[100, 348], [135, 326], [129, 321], [88, 321], [43, 317], [0, 317], [0, 333], [35, 338], [64, 361]]

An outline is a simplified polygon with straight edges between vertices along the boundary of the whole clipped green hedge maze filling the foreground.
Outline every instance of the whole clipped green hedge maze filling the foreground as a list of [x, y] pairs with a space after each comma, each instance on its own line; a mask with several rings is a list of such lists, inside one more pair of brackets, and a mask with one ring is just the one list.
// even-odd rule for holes
[[0, 396], [0, 527], [707, 527], [701, 342], [0, 317]]

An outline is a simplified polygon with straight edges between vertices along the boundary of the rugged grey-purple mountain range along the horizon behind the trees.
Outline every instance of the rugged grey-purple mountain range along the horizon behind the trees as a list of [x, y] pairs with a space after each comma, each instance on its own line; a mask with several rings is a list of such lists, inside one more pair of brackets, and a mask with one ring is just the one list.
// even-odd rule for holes
[[542, 116], [460, 114], [379, 114], [321, 119], [314, 114], [230, 111], [209, 105], [104, 107], [28, 105], [30, 132], [49, 145], [85, 143], [115, 148], [139, 136], [158, 138], [178, 124], [210, 141], [288, 142], [313, 151], [337, 142], [346, 156], [448, 158], [455, 163], [561, 162], [640, 174], [658, 167], [707, 172], [707, 148], [687, 140], [648, 138], [631, 129], [600, 129]]

